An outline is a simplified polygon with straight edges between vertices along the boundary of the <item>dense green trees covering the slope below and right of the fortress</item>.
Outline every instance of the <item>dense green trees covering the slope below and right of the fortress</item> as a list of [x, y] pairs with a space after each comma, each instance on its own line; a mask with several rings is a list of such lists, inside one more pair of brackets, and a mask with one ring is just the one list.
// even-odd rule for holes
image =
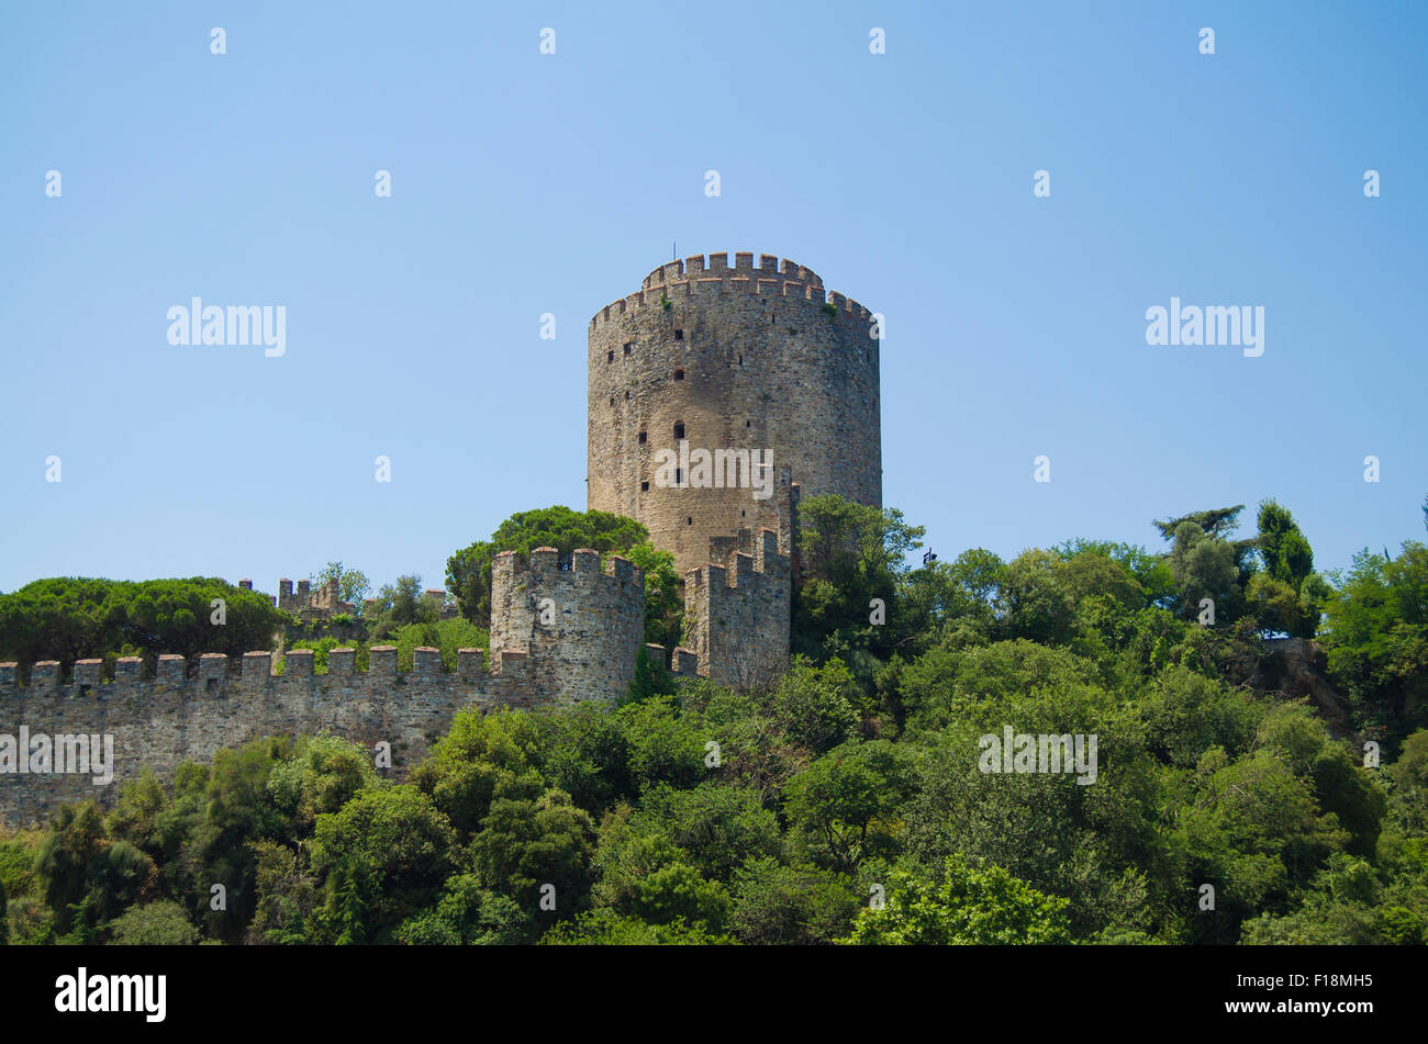
[[[803, 509], [798, 655], [773, 685], [671, 692], [644, 665], [615, 707], [463, 712], [403, 782], [331, 736], [144, 776], [0, 840], [0, 937], [1428, 941], [1428, 548], [1319, 576], [1265, 502], [1242, 539], [1222, 508], [1157, 523], [1160, 553], [910, 568], [922, 533], [897, 512]], [[1275, 667], [1315, 673], [1279, 640], [1307, 633], [1312, 702]], [[988, 772], [1008, 727], [1094, 736], [1094, 780]]]

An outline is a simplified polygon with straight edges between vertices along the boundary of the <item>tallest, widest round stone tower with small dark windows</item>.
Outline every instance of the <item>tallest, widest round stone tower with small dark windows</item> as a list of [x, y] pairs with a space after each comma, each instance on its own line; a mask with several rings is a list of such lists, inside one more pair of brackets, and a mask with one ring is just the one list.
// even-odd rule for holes
[[588, 332], [587, 506], [638, 519], [683, 576], [798, 496], [881, 506], [874, 317], [811, 270], [711, 254], [655, 268]]

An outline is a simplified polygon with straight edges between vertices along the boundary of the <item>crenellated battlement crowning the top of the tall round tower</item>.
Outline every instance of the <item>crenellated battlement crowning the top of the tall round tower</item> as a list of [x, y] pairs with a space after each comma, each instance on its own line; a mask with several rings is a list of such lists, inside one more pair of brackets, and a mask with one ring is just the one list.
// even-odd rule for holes
[[701, 294], [754, 294], [791, 301], [807, 301], [817, 308], [834, 305], [835, 318], [845, 322], [871, 321], [873, 312], [853, 298], [827, 292], [823, 280], [811, 268], [784, 258], [781, 262], [773, 254], [760, 254], [754, 267], [753, 254], [735, 254], [734, 265], [728, 254], [703, 254], [667, 261], [645, 278], [640, 290], [595, 312], [590, 329], [595, 331], [627, 312], [647, 307], [660, 307], [665, 300], [678, 302]]

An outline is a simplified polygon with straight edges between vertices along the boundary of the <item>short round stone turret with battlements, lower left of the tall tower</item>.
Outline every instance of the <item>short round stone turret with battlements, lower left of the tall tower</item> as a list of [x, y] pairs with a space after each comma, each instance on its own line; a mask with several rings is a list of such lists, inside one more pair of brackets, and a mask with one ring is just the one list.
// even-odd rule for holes
[[537, 548], [530, 563], [510, 551], [491, 562], [491, 649], [527, 653], [550, 702], [618, 699], [643, 643], [644, 575], [630, 559], [611, 555], [601, 572], [581, 549], [561, 569], [554, 548]]

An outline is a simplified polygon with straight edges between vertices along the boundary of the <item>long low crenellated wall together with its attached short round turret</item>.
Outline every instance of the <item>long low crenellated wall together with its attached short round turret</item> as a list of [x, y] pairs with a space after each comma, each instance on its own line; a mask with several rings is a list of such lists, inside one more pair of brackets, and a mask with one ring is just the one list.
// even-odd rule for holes
[[[270, 652], [246, 653], [241, 665], [204, 655], [194, 677], [186, 676], [183, 656], [160, 656], [153, 679], [140, 677], [143, 660], [131, 656], [119, 660], [111, 682], [101, 676], [103, 660], [79, 660], [71, 685], [59, 685], [60, 665], [46, 660], [31, 667], [24, 687], [16, 685], [16, 665], [0, 663], [0, 824], [43, 822], [66, 802], [111, 802], [119, 784], [144, 767], [169, 779], [181, 760], [207, 762], [264, 736], [327, 730], [367, 747], [386, 740], [393, 769], [403, 774], [461, 707], [613, 700], [628, 690], [644, 642], [644, 580], [628, 559], [611, 556], [605, 568], [601, 573], [593, 551], [577, 551], [568, 570], [548, 548], [533, 552], [530, 566], [498, 556], [490, 672], [480, 649], [461, 649], [456, 673], [444, 675], [441, 653], [423, 648], [413, 670], [398, 675], [394, 646], [374, 646], [367, 672], [356, 670], [353, 649], [333, 649], [326, 675], [314, 675], [311, 650], [288, 650], [283, 675], [273, 675]], [[538, 619], [544, 598], [553, 600], [550, 625]], [[677, 650], [675, 660], [693, 675], [687, 650]], [[113, 782], [96, 786], [93, 773], [14, 772], [4, 737], [17, 740], [21, 729], [30, 736], [113, 736]]]

